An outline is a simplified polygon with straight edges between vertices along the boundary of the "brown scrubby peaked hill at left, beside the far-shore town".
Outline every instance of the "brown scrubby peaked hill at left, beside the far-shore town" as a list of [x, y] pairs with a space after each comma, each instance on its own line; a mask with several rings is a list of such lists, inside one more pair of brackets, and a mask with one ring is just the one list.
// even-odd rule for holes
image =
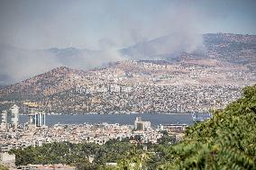
[[74, 75], [83, 73], [83, 71], [69, 67], [57, 67], [44, 74], [33, 76], [20, 83], [0, 89], [0, 96], [19, 98], [56, 94], [72, 88], [76, 84]]

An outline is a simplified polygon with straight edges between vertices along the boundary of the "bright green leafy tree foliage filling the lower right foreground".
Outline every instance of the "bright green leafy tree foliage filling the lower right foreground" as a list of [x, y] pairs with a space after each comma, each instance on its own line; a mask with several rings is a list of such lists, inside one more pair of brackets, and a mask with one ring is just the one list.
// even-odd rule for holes
[[185, 139], [162, 148], [168, 162], [160, 169], [255, 169], [256, 86], [246, 87], [243, 97], [215, 112], [211, 120], [186, 131]]

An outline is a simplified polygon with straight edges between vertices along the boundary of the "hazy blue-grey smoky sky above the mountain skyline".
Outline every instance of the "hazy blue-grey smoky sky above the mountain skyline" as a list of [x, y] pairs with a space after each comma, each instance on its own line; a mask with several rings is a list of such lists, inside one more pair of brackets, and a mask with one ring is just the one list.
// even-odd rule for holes
[[256, 34], [255, 0], [0, 0], [0, 42], [122, 48], [172, 32]]

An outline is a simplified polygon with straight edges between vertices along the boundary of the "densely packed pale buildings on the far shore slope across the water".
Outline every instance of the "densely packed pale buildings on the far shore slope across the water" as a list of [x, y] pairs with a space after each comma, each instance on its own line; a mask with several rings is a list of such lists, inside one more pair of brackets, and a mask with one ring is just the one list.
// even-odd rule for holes
[[[223, 108], [241, 94], [241, 87], [235, 85], [135, 85], [129, 86], [128, 92], [105, 93], [99, 93], [96, 86], [95, 91], [88, 90], [91, 86], [77, 87], [40, 103], [52, 112], [68, 113], [209, 112]], [[104, 87], [108, 85], [101, 85]]]

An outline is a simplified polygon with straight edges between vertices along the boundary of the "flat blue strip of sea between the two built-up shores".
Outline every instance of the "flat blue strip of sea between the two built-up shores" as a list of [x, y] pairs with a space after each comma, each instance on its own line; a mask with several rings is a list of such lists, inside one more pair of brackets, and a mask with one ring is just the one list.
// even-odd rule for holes
[[[198, 117], [207, 118], [204, 113], [198, 113]], [[136, 117], [142, 117], [143, 121], [151, 121], [151, 126], [164, 124], [187, 124], [192, 125], [193, 119], [190, 113], [170, 113], [170, 114], [148, 114], [148, 113], [133, 113], [133, 114], [76, 114], [76, 115], [46, 115], [46, 125], [54, 124], [97, 124], [97, 123], [119, 123], [133, 124]], [[28, 121], [27, 115], [20, 115], [19, 122], [25, 123]]]

